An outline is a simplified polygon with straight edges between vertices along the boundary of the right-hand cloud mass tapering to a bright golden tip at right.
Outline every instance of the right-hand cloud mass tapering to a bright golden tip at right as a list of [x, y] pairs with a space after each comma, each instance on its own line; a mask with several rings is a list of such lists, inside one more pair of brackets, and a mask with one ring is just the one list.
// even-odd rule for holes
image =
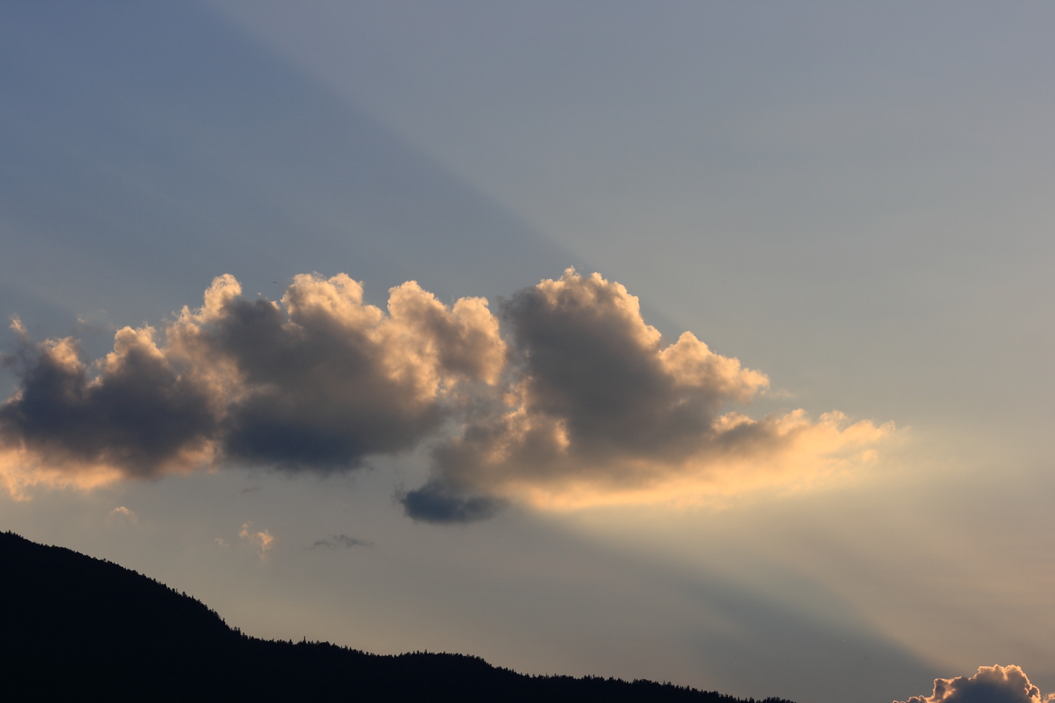
[[496, 496], [573, 507], [801, 481], [867, 461], [893, 430], [840, 413], [723, 414], [767, 377], [690, 332], [665, 347], [637, 298], [596, 273], [519, 291], [502, 315], [510, 390], [436, 448], [431, 481], [403, 499], [416, 519], [485, 516]]

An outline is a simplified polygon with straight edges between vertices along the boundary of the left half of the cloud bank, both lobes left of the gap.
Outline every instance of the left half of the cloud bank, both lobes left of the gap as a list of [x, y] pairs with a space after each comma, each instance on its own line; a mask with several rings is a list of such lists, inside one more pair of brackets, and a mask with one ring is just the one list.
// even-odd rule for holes
[[241, 293], [220, 276], [164, 335], [118, 330], [94, 364], [72, 337], [33, 345], [16, 320], [21, 384], [0, 407], [8, 490], [216, 463], [353, 468], [414, 448], [461, 385], [495, 384], [502, 369], [481, 298], [444, 306], [411, 281], [382, 311], [343, 274], [296, 276], [279, 302]]

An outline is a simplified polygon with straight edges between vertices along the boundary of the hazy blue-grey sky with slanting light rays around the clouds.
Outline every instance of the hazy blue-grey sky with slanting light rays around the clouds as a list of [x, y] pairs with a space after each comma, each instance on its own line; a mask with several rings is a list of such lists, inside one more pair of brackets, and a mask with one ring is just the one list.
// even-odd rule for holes
[[488, 484], [490, 520], [415, 521], [399, 496], [455, 475], [434, 436], [326, 476], [40, 484], [0, 497], [4, 528], [266, 637], [801, 701], [993, 663], [1055, 689], [1050, 5], [0, 12], [0, 312], [33, 343], [98, 358], [222, 274], [247, 299], [346, 273], [376, 306], [414, 279], [497, 311], [574, 266], [665, 345], [764, 372], [738, 412], [898, 428], [706, 500], [523, 479]]

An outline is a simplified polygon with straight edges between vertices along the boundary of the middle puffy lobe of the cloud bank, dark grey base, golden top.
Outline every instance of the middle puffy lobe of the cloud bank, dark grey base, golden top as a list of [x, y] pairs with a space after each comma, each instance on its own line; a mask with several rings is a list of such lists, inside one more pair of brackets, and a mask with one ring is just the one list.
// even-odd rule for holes
[[232, 458], [330, 468], [410, 448], [443, 421], [443, 378], [493, 376], [488, 356], [500, 360], [497, 323], [488, 336], [481, 304], [450, 311], [417, 284], [392, 290], [388, 315], [363, 305], [362, 287], [344, 275], [298, 276], [282, 301], [285, 311], [232, 298], [205, 326], [181, 317], [180, 341], [197, 360], [235, 371], [220, 423]]

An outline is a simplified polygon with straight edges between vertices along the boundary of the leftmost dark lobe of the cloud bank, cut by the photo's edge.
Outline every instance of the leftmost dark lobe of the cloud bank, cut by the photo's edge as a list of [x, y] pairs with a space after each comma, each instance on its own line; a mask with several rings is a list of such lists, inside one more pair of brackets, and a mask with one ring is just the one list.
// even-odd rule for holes
[[[96, 375], [74, 339], [39, 345], [21, 388], [0, 407], [4, 464], [61, 482], [62, 473], [154, 475], [206, 457], [214, 433], [207, 390], [172, 367], [154, 334], [117, 332]], [[4, 477], [17, 492], [19, 476]]]

